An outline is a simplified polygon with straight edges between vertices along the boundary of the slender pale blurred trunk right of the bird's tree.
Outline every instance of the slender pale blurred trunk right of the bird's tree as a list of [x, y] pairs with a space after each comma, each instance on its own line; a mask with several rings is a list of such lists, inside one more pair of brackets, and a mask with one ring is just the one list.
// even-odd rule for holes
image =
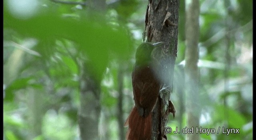
[[[199, 38], [199, 0], [192, 0], [186, 11], [186, 64], [185, 82], [187, 90], [188, 128], [199, 126], [199, 73], [198, 73], [198, 38]], [[188, 140], [198, 140], [199, 134], [188, 134]]]

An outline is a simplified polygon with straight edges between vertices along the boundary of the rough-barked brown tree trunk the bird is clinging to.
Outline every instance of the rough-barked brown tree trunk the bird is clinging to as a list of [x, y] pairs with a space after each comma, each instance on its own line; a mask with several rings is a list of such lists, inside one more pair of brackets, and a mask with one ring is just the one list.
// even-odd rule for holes
[[152, 140], [166, 139], [164, 128], [169, 116], [168, 106], [177, 53], [179, 4], [179, 0], [149, 0], [146, 12], [144, 42], [164, 42], [164, 46], [152, 52], [162, 65], [161, 86], [166, 88], [160, 92], [152, 113]]

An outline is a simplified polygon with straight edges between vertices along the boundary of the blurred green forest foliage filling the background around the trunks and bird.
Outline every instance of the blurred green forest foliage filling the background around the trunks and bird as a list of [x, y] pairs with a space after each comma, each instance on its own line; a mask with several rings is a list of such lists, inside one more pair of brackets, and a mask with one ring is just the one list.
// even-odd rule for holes
[[[250, 140], [252, 0], [225, 2], [200, 0], [200, 126], [239, 128], [240, 134], [200, 136]], [[102, 140], [118, 139], [118, 69], [122, 64], [125, 71], [126, 119], [134, 104], [131, 71], [136, 46], [142, 40], [147, 3], [106, 0], [106, 11], [100, 13], [90, 12], [86, 6], [50, 0], [5, 0], [4, 140], [79, 139], [81, 62], [86, 62], [90, 74], [101, 82]], [[185, 57], [185, 6], [181, 2], [177, 66], [184, 64]], [[174, 85], [182, 81], [180, 74], [175, 68]], [[177, 93], [175, 86], [171, 98], [179, 119], [170, 117], [167, 124], [173, 129], [186, 127], [186, 111], [179, 112], [184, 104]], [[182, 140], [186, 135], [171, 133], [167, 137]]]

